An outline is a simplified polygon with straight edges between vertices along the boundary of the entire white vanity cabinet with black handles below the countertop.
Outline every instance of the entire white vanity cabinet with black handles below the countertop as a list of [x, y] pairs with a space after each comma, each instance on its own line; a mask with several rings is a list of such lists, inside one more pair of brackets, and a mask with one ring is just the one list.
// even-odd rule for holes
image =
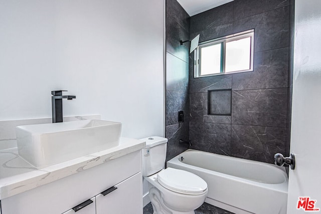
[[[93, 158], [90, 161], [96, 160]], [[3, 198], [2, 214], [70, 214], [75, 213], [72, 208], [88, 202], [88, 199], [93, 202], [89, 201], [77, 214], [142, 213], [141, 150], [123, 156], [111, 156], [105, 163], [89, 169], [86, 169], [85, 164], [77, 171]], [[110, 188], [116, 189], [103, 196], [102, 193]]]

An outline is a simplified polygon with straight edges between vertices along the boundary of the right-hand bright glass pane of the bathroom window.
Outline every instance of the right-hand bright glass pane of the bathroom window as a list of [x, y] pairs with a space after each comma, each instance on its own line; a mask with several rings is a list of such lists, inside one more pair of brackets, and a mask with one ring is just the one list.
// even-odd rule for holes
[[225, 72], [249, 70], [251, 37], [226, 43]]

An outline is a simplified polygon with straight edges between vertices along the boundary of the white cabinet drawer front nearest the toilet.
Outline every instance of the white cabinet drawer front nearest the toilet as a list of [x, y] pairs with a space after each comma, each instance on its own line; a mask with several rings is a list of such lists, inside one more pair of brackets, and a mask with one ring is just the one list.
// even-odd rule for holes
[[142, 213], [141, 172], [116, 184], [106, 195], [96, 195], [96, 214]]

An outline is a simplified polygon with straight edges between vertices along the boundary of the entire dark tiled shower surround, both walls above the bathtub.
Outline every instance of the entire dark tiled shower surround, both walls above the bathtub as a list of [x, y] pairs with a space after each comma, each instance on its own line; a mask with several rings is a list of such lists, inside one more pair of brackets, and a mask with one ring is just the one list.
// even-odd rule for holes
[[[194, 149], [268, 163], [274, 153], [287, 154], [290, 1], [235, 0], [190, 18], [176, 0], [167, 0], [166, 9], [168, 159], [188, 148], [179, 139], [191, 140]], [[254, 71], [194, 78], [194, 56], [180, 40], [200, 34], [204, 42], [251, 29]], [[222, 89], [232, 90], [231, 116], [208, 115], [208, 91]]]

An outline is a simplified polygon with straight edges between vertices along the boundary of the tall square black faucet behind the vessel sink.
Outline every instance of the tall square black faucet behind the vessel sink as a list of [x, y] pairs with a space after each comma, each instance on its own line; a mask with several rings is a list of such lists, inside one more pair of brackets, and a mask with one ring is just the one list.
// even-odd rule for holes
[[64, 90], [51, 91], [51, 94], [53, 95], [51, 97], [53, 123], [62, 122], [62, 99], [72, 100], [76, 98], [76, 96], [70, 96], [70, 95], [62, 96], [63, 91]]

